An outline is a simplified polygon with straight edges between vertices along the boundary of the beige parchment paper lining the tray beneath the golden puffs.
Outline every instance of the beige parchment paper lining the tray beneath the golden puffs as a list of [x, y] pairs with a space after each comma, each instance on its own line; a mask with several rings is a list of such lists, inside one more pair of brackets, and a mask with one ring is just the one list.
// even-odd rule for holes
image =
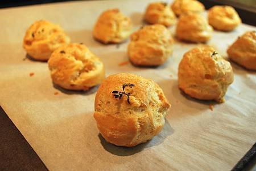
[[[230, 170], [255, 143], [255, 72], [232, 63], [234, 83], [226, 102], [203, 102], [177, 87], [180, 59], [196, 44], [176, 41], [166, 64], [139, 68], [118, 66], [128, 60], [128, 41], [118, 48], [92, 38], [94, 22], [107, 8], [120, 8], [138, 29], [148, 2], [80, 1], [0, 10], [0, 105], [49, 170]], [[158, 83], [172, 104], [162, 132], [133, 148], [106, 143], [93, 118], [97, 87], [88, 92], [65, 91], [53, 86], [47, 63], [23, 61], [24, 33], [39, 19], [60, 24], [73, 42], [88, 46], [104, 62], [106, 76], [133, 72]], [[252, 29], [242, 24], [229, 33], [214, 31], [208, 44], [226, 56], [227, 46]]]

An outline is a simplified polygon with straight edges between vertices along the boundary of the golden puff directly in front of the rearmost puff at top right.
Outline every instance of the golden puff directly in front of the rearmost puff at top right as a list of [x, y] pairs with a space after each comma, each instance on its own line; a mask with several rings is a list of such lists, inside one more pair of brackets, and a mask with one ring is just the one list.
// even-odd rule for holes
[[176, 27], [176, 37], [189, 42], [206, 42], [212, 37], [212, 27], [199, 14], [183, 14]]

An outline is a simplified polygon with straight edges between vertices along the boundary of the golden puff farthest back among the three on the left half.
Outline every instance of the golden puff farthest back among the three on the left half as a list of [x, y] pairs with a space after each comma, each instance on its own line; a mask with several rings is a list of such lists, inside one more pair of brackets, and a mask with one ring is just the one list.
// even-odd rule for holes
[[131, 20], [118, 9], [106, 10], [94, 25], [93, 37], [104, 44], [119, 43], [129, 37], [131, 28]]

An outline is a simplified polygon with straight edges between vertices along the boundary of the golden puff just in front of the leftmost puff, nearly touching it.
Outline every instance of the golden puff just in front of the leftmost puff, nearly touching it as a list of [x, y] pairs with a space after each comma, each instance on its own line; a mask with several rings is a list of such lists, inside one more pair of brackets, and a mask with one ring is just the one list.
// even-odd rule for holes
[[56, 49], [48, 60], [53, 83], [65, 89], [88, 90], [104, 79], [104, 65], [85, 45]]

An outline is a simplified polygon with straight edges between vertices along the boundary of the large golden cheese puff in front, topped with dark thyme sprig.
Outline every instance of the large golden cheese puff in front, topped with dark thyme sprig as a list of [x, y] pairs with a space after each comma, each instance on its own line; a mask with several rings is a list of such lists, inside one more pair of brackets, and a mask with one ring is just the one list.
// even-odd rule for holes
[[[112, 91], [123, 91], [122, 84], [130, 93], [121, 100], [114, 98]], [[117, 146], [132, 147], [144, 143], [158, 134], [164, 125], [164, 117], [170, 104], [162, 89], [150, 79], [121, 73], [110, 75], [98, 88], [95, 99], [94, 118], [101, 135]]]

